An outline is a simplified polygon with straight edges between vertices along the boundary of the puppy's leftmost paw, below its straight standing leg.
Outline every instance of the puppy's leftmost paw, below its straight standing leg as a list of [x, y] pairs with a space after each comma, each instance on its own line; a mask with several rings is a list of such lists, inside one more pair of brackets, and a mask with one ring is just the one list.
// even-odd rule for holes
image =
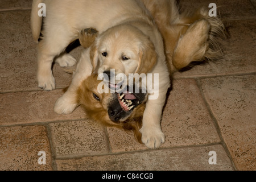
[[38, 87], [50, 91], [55, 89], [55, 78], [52, 73], [38, 74]]

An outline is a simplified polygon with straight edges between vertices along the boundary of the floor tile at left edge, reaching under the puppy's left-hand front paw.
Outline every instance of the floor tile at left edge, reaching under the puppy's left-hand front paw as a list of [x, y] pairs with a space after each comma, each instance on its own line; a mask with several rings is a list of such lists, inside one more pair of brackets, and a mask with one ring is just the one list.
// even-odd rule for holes
[[57, 98], [62, 94], [62, 90], [0, 94], [0, 125], [85, 118], [80, 107], [67, 115], [59, 115], [53, 111]]

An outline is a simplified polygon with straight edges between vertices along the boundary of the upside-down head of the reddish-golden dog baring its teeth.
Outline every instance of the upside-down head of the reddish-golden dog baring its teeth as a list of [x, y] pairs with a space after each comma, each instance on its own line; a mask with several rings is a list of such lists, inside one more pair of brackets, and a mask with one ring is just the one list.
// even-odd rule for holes
[[77, 90], [78, 103], [88, 117], [105, 126], [132, 130], [135, 138], [141, 142], [139, 129], [142, 126], [146, 94], [101, 93], [99, 86], [105, 86], [101, 83], [95, 74], [86, 78]]

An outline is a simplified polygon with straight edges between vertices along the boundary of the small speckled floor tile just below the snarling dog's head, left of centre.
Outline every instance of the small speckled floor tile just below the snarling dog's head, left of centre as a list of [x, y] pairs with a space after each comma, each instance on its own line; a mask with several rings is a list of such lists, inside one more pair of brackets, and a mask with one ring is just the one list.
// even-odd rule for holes
[[56, 156], [108, 153], [104, 128], [94, 121], [52, 123], [51, 134]]

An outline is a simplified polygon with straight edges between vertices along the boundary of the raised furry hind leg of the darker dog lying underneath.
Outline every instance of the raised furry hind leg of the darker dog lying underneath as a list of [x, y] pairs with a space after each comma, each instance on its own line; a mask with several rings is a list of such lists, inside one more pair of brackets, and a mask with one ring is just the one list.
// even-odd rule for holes
[[208, 11], [201, 8], [193, 15], [180, 15], [178, 24], [183, 28], [172, 57], [176, 69], [187, 67], [192, 61], [222, 57], [217, 38], [225, 36], [225, 27], [220, 18], [210, 17]]

